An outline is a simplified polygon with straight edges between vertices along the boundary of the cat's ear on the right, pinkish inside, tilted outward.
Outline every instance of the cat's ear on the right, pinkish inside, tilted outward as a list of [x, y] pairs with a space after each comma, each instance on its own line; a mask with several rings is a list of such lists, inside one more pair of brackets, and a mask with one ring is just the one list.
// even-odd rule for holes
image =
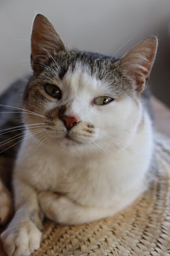
[[128, 53], [120, 61], [123, 73], [135, 80], [135, 90], [141, 94], [148, 80], [157, 51], [157, 38], [150, 36]]

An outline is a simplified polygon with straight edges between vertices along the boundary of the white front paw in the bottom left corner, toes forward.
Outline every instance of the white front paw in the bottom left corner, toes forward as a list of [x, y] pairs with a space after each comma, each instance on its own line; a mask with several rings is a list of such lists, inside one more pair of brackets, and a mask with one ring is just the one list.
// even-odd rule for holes
[[41, 232], [33, 222], [20, 222], [15, 227], [8, 227], [1, 239], [8, 256], [28, 256], [40, 247]]

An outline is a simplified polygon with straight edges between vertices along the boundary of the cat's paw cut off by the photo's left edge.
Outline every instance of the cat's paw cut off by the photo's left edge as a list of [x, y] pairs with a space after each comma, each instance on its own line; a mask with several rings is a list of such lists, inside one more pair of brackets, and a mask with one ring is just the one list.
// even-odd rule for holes
[[9, 191], [2, 187], [0, 189], [0, 225], [7, 223], [13, 213], [13, 203]]

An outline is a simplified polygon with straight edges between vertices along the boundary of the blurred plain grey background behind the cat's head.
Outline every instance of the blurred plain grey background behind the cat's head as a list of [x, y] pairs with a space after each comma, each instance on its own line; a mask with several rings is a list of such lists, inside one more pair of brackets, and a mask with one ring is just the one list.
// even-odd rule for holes
[[0, 92], [31, 72], [29, 40], [36, 13], [51, 20], [68, 48], [110, 56], [130, 38], [116, 56], [147, 36], [158, 36], [150, 85], [170, 107], [170, 0], [0, 0]]

